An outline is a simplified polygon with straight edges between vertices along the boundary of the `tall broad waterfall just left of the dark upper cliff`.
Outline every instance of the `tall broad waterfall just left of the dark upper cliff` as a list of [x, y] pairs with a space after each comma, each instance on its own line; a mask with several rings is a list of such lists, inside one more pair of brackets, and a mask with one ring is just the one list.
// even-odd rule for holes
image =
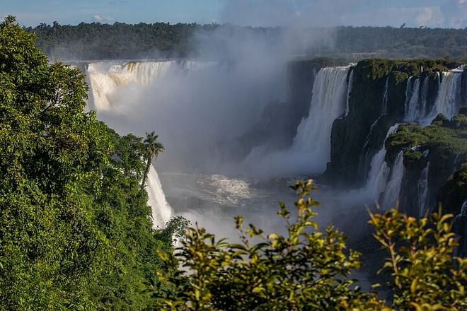
[[324, 172], [330, 160], [330, 134], [333, 122], [345, 112], [349, 67], [329, 67], [318, 71], [313, 83], [309, 117], [303, 119], [294, 138], [294, 151], [306, 154]]

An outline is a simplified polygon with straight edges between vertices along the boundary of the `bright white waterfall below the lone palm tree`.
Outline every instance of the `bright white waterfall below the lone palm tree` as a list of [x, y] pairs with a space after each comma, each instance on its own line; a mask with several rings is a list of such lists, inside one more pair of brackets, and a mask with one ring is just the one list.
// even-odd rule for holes
[[172, 208], [168, 205], [166, 195], [163, 193], [161, 180], [153, 165], [149, 169], [146, 191], [149, 195], [149, 205], [152, 211], [152, 225], [162, 228], [171, 219]]

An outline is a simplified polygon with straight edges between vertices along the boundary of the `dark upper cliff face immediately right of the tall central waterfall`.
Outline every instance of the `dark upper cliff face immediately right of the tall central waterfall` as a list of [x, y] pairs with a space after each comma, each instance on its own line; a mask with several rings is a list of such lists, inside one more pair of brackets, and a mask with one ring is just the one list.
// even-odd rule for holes
[[446, 61], [368, 59], [352, 69], [349, 113], [336, 119], [325, 180], [358, 187], [367, 180], [372, 156], [384, 142], [388, 128], [403, 122], [410, 76], [427, 79], [427, 102], [436, 99], [439, 74], [454, 67]]

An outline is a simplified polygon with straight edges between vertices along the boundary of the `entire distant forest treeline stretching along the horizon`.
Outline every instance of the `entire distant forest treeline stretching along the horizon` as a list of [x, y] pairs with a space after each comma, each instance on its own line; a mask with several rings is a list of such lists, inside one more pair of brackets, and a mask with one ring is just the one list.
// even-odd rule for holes
[[[289, 35], [284, 28], [250, 28], [233, 25], [199, 25], [196, 23], [80, 23], [79, 25], [40, 24], [26, 28], [37, 36], [36, 44], [52, 59], [145, 59], [198, 55], [200, 42], [195, 33], [209, 35], [249, 30], [281, 44]], [[467, 59], [466, 29], [337, 27], [307, 28], [296, 35], [310, 38], [312, 45], [300, 49], [307, 57], [339, 56], [346, 59], [451, 58]], [[229, 39], [227, 37], [226, 39]], [[214, 38], [212, 40], [215, 40]]]

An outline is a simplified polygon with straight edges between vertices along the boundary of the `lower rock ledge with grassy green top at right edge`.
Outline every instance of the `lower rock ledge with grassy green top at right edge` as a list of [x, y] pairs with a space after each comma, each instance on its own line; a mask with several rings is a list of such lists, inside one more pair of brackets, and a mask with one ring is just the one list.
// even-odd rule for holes
[[451, 121], [439, 115], [429, 127], [401, 125], [386, 141], [386, 149], [392, 156], [404, 152], [404, 211], [422, 216], [441, 203], [444, 213], [459, 212], [467, 199], [467, 115]]

